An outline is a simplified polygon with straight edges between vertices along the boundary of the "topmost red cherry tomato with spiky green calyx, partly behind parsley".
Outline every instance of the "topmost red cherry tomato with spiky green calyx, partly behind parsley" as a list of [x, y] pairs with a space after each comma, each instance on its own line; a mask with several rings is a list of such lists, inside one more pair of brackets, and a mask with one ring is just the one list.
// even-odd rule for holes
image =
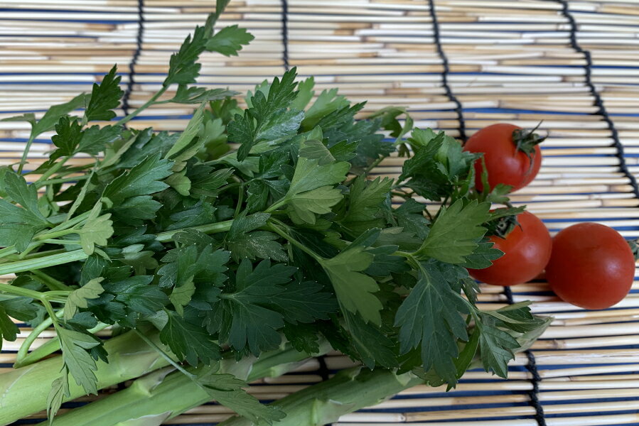
[[[542, 165], [542, 151], [539, 145], [532, 145], [534, 136], [525, 137], [529, 134], [526, 131], [518, 136], [525, 138], [525, 141], [522, 143], [522, 149], [517, 149], [517, 141], [513, 138], [513, 134], [521, 130], [513, 124], [493, 124], [473, 134], [463, 147], [464, 151], [484, 154], [483, 158], [488, 170], [488, 185], [491, 188], [503, 183], [512, 186], [512, 191], [516, 191], [532, 182], [539, 173], [539, 166]], [[482, 162], [477, 160], [475, 184], [480, 191], [483, 190], [482, 171]]]

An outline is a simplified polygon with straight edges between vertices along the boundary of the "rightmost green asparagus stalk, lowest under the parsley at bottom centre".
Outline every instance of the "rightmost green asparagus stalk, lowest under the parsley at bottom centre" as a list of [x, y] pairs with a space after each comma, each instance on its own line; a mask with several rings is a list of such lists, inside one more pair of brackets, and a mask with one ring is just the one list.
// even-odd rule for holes
[[[421, 379], [392, 371], [353, 368], [340, 371], [328, 381], [309, 386], [273, 403], [286, 417], [277, 426], [321, 426], [337, 422], [340, 416], [379, 404]], [[218, 426], [252, 426], [250, 420], [232, 417]]]

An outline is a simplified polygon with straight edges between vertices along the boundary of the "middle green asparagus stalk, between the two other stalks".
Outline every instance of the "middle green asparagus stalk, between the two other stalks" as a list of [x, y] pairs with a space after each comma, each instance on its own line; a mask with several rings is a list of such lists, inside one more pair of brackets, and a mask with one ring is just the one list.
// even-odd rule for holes
[[[330, 349], [328, 344], [321, 346], [321, 353]], [[295, 349], [284, 349], [271, 354], [263, 354], [259, 359], [252, 356], [239, 362], [233, 359], [222, 361], [220, 373], [233, 375], [254, 381], [258, 378], [280, 376], [299, 366], [308, 358]], [[136, 380], [124, 391], [102, 398], [71, 410], [56, 417], [55, 426], [112, 426], [118, 422], [146, 418], [157, 418], [157, 424], [184, 413], [190, 408], [208, 403], [210, 395], [182, 373], [168, 374], [171, 368]]]

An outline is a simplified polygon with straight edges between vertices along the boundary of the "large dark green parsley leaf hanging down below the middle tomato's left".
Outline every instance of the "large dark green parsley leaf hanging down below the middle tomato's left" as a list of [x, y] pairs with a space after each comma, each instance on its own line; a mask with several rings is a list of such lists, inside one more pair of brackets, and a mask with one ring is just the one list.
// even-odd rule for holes
[[455, 383], [457, 340], [467, 338], [460, 312], [468, 313], [468, 308], [449, 285], [446, 275], [450, 272], [440, 268], [422, 264], [417, 285], [397, 310], [395, 327], [399, 327], [402, 353], [421, 344], [424, 370], [434, 368], [445, 381]]

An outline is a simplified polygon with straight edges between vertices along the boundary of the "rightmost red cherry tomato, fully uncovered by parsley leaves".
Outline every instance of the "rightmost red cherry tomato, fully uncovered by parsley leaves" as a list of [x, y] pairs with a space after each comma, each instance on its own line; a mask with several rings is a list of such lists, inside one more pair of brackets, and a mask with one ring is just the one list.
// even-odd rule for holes
[[552, 241], [546, 267], [550, 287], [564, 302], [605, 309], [620, 302], [635, 278], [635, 258], [623, 236], [601, 224], [576, 224]]

